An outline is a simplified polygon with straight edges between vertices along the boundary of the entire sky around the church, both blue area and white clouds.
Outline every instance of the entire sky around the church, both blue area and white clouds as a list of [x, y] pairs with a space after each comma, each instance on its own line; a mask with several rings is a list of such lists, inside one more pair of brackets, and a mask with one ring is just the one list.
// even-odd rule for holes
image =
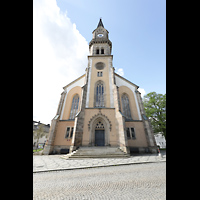
[[166, 0], [33, 0], [33, 119], [51, 123], [63, 87], [85, 73], [102, 17], [116, 72], [166, 93]]

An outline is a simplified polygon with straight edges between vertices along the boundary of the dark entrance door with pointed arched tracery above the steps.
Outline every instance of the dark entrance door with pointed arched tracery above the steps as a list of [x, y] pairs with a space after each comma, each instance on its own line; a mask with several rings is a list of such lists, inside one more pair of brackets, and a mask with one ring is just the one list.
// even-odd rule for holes
[[101, 119], [95, 127], [95, 146], [105, 146], [105, 128]]

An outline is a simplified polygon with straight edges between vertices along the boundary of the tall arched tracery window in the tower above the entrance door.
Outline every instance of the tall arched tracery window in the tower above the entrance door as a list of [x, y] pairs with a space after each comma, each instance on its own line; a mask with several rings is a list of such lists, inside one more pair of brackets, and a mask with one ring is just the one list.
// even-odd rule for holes
[[99, 81], [96, 85], [96, 101], [95, 107], [104, 107], [104, 85], [102, 81]]

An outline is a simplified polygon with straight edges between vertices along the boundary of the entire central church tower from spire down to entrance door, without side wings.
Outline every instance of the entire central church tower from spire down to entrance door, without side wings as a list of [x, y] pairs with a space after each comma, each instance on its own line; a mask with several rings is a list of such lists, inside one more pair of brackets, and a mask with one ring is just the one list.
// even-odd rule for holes
[[[118, 135], [114, 134], [116, 125], [112, 42], [109, 40], [109, 32], [104, 28], [101, 19], [92, 34], [86, 69], [86, 98], [82, 104], [84, 120], [81, 122], [79, 120], [79, 124], [84, 124], [83, 128], [81, 127], [84, 134], [77, 136], [79, 131], [76, 131], [71, 151], [80, 143], [82, 146], [91, 147], [118, 146]], [[82, 141], [79, 140], [80, 138]]]

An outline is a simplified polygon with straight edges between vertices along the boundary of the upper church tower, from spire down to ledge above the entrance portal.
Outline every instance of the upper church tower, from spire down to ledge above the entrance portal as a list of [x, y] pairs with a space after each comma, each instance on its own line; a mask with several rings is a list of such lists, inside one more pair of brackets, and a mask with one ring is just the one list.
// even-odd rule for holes
[[86, 108], [113, 108], [112, 42], [101, 19], [92, 34], [93, 38], [89, 43]]

